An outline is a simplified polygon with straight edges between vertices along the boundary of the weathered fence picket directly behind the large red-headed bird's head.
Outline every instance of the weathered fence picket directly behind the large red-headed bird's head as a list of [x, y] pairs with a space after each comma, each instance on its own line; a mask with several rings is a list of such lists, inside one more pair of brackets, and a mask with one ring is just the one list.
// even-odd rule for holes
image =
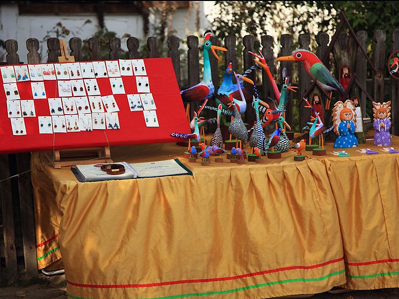
[[[301, 49], [310, 50], [310, 35], [309, 34], [299, 34], [298, 36], [299, 47]], [[303, 62], [298, 64], [298, 79], [299, 79], [299, 99], [302, 99], [305, 92], [311, 85], [311, 78], [306, 72]], [[310, 102], [310, 98], [309, 98]], [[299, 107], [299, 130], [305, 127], [306, 123], [310, 121], [310, 109], [304, 107], [306, 105], [305, 101], [302, 101]]]

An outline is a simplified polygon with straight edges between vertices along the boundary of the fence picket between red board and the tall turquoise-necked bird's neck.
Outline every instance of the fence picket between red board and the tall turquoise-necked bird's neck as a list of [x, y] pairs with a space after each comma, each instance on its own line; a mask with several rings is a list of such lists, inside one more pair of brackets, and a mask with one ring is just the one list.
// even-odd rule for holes
[[[196, 85], [200, 83], [200, 52], [198, 49], [198, 37], [194, 35], [189, 35], [187, 37], [187, 46], [189, 47], [187, 51], [187, 60], [188, 60], [188, 79], [189, 86]], [[190, 105], [190, 119], [194, 115], [194, 111], [196, 111], [196, 107], [198, 106], [198, 101], [192, 103]]]

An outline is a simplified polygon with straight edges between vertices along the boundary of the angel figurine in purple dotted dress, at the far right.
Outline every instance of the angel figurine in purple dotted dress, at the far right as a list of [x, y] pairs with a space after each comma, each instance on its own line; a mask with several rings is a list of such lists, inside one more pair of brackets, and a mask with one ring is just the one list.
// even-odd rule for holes
[[374, 145], [388, 147], [392, 144], [391, 129], [391, 101], [387, 103], [373, 102]]

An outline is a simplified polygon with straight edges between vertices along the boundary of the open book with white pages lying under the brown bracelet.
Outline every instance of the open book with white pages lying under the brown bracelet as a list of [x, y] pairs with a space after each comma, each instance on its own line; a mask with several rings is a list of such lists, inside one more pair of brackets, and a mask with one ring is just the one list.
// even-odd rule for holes
[[118, 164], [125, 167], [124, 173], [107, 174], [99, 167], [101, 164], [76, 165], [76, 168], [71, 168], [71, 170], [80, 182], [193, 174], [179, 159], [142, 163], [118, 162]]

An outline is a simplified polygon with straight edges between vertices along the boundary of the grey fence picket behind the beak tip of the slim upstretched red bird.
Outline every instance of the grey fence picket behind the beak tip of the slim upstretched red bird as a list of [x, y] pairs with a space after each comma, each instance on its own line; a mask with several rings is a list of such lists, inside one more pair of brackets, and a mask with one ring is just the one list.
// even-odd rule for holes
[[[245, 35], [242, 38], [242, 44], [244, 45], [244, 50], [242, 52], [242, 57], [243, 57], [243, 60], [244, 60], [244, 71], [245, 71], [245, 70], [249, 69], [252, 65], [255, 64], [255, 61], [253, 60], [254, 57], [251, 54], [248, 53], [248, 51], [255, 52], [255, 49], [254, 49], [255, 39], [250, 34]], [[250, 73], [247, 77], [248, 77], [248, 79], [251, 79], [256, 84], [255, 73], [254, 72]], [[252, 85], [250, 85], [249, 83], [244, 82], [244, 87], [248, 90], [248, 92], [253, 94], [253, 86]], [[247, 124], [252, 125], [254, 120], [255, 120], [255, 118], [256, 118], [256, 116], [255, 116], [255, 111], [250, 108], [251, 107], [250, 105], [251, 104], [247, 105], [247, 110], [245, 112], [246, 120], [245, 120], [245, 118], [243, 118], [243, 120]]]

